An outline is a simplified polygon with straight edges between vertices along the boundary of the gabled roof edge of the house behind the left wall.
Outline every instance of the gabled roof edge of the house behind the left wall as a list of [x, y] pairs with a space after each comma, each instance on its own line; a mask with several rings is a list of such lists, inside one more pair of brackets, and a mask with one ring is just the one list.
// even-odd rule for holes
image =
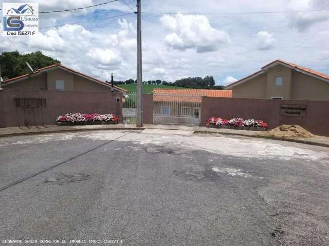
[[[101, 84], [101, 85], [103, 85], [103, 86], [111, 87], [111, 84], [109, 84], [109, 83], [106, 83], [106, 82], [104, 82], [104, 81], [102, 81], [102, 80], [99, 80], [99, 79], [97, 79], [97, 78], [94, 78], [94, 77], [90, 77], [89, 75], [86, 75], [86, 74], [84, 74], [84, 73], [80, 73], [80, 72], [78, 72], [78, 71], [76, 71], [76, 70], [73, 70], [73, 69], [71, 69], [71, 68], [68, 68], [68, 67], [66, 67], [66, 66], [63, 66], [63, 65], [61, 65], [61, 64], [54, 64], [54, 65], [51, 65], [51, 66], [48, 66], [48, 67], [40, 68], [40, 69], [34, 71], [33, 73], [30, 73], [30, 74], [24, 74], [24, 75], [21, 75], [21, 76], [15, 77], [15, 78], [7, 79], [7, 80], [5, 80], [2, 84], [3, 84], [4, 86], [6, 86], [6, 85], [8, 85], [7, 83], [10, 83], [10, 84], [11, 84], [11, 83], [15, 83], [16, 81], [19, 81], [19, 80], [22, 80], [22, 79], [26, 79], [26, 78], [28, 78], [28, 77], [30, 77], [30, 76], [35, 76], [35, 75], [38, 75], [38, 74], [40, 74], [40, 73], [42, 73], [42, 72], [47, 72], [47, 71], [49, 71], [49, 70], [53, 70], [53, 69], [56, 69], [56, 68], [60, 68], [60, 69], [63, 69], [63, 70], [65, 70], [65, 71], [68, 71], [68, 72], [74, 73], [74, 74], [76, 74], [76, 75], [78, 75], [78, 76], [81, 76], [81, 77], [87, 78], [87, 79], [92, 80], [92, 81], [94, 81], [94, 82], [96, 82], [96, 83], [98, 83], [98, 84]], [[117, 87], [117, 86], [113, 86], [113, 88], [116, 89], [116, 90], [122, 91], [122, 92], [127, 92], [126, 90], [124, 90], [124, 89], [122, 89], [122, 88], [120, 88], [120, 87]]]

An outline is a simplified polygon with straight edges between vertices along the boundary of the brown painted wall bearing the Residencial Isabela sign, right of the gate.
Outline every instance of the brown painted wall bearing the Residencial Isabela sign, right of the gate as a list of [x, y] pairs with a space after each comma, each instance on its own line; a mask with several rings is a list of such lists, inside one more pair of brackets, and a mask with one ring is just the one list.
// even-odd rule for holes
[[[306, 117], [280, 116], [280, 104], [306, 105]], [[203, 97], [202, 126], [205, 126], [206, 119], [210, 116], [262, 119], [269, 129], [282, 124], [295, 124], [314, 134], [329, 136], [329, 101]]]

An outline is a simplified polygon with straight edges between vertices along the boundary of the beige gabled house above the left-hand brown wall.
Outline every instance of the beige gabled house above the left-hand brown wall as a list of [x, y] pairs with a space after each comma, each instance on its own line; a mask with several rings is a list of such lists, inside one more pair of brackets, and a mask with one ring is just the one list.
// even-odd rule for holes
[[111, 87], [109, 83], [60, 64], [51, 65], [30, 74], [7, 79], [3, 82], [2, 87], [5, 89], [126, 92], [126, 90], [120, 87]]

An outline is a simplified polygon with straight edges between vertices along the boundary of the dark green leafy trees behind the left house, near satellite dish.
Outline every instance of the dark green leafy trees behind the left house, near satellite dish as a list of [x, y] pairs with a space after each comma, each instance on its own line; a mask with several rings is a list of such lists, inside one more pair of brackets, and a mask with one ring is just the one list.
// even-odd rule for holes
[[4, 79], [9, 79], [31, 73], [26, 62], [31, 65], [33, 70], [61, 63], [57, 59], [42, 54], [41, 51], [25, 55], [21, 55], [18, 51], [3, 52], [0, 54], [1, 76]]

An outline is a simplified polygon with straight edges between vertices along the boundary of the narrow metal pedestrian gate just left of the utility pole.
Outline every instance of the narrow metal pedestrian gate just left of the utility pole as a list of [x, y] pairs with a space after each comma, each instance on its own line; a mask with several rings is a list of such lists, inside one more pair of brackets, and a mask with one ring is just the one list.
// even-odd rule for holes
[[136, 124], [136, 91], [123, 94], [123, 124]]

